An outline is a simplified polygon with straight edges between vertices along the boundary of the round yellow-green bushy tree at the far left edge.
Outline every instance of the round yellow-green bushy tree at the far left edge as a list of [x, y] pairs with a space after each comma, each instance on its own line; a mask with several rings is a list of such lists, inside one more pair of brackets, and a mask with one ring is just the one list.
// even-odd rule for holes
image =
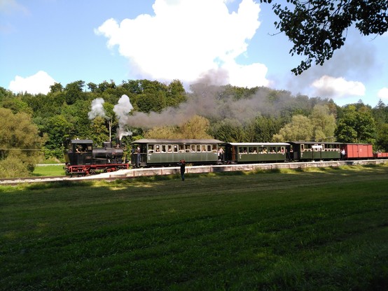
[[0, 176], [28, 176], [39, 159], [43, 139], [27, 113], [0, 108]]

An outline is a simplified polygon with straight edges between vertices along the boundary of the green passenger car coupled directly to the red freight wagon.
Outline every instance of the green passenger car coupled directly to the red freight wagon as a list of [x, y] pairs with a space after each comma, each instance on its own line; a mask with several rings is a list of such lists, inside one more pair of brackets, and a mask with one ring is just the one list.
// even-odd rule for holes
[[340, 159], [342, 143], [290, 141], [293, 160], [300, 162]]

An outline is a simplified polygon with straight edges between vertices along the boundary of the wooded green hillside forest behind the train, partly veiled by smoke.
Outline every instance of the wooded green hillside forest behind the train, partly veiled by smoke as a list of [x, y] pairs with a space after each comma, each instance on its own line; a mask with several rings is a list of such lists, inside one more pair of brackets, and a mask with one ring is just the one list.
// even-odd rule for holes
[[180, 80], [78, 80], [55, 83], [48, 94], [0, 87], [0, 176], [28, 176], [36, 163], [63, 162], [67, 139], [95, 146], [120, 139], [207, 139], [227, 142], [339, 141], [373, 143], [388, 151], [388, 107], [360, 100], [293, 96], [268, 87], [207, 84], [185, 90]]

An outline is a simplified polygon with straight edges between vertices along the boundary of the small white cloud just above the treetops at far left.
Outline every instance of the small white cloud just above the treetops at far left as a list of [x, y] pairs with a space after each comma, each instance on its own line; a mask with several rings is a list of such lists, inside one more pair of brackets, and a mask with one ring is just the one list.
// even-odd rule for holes
[[55, 80], [45, 71], [39, 71], [33, 76], [22, 78], [16, 76], [12, 80], [8, 89], [14, 93], [28, 92], [30, 94], [47, 94], [50, 92], [50, 86], [54, 85]]

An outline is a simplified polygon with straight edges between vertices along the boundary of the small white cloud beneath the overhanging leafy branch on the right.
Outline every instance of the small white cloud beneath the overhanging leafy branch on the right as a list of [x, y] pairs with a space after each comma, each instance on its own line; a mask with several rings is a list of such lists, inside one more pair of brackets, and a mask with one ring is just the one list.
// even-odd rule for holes
[[363, 96], [365, 86], [361, 82], [347, 81], [344, 78], [334, 78], [331, 76], [322, 76], [312, 83], [320, 97], [348, 97]]

